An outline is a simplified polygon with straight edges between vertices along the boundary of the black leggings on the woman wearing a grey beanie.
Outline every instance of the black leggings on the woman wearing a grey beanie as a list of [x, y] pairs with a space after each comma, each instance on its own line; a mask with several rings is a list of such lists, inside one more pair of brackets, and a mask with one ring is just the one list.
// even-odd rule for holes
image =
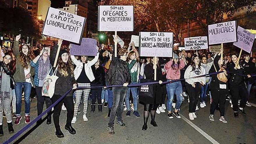
[[[53, 95], [51, 100], [52, 103], [56, 102], [61, 95]], [[71, 125], [72, 118], [74, 116], [74, 102], [73, 97], [64, 97], [56, 106], [54, 106], [53, 112], [53, 121], [56, 130], [60, 130], [60, 114], [61, 114], [61, 107], [64, 102], [65, 107], [67, 108], [67, 121], [66, 125]]]

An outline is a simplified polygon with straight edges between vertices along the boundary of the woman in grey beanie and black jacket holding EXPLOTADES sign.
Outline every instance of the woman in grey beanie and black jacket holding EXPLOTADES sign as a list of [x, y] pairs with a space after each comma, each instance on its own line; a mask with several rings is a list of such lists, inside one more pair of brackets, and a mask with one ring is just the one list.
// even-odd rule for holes
[[[58, 41], [58, 45], [62, 44], [62, 40]], [[54, 60], [57, 53], [57, 45], [52, 49], [50, 54], [50, 62], [51, 65], [54, 65]], [[55, 83], [55, 90], [54, 95], [51, 98], [52, 103], [56, 102], [62, 95], [64, 95], [67, 90], [70, 88], [76, 89], [77, 82], [74, 78], [74, 65], [72, 64], [69, 51], [66, 49], [62, 49], [58, 55], [57, 61], [57, 73], [56, 76], [58, 77]], [[72, 92], [68, 93], [64, 99], [62, 99], [56, 106], [54, 106], [54, 113], [53, 113], [53, 121], [54, 126], [56, 129], [56, 136], [58, 138], [63, 138], [64, 134], [61, 131], [59, 120], [60, 120], [60, 113], [61, 107], [64, 102], [65, 107], [67, 108], [67, 121], [65, 125], [65, 129], [69, 131], [70, 134], [76, 134], [76, 130], [71, 126], [71, 121], [74, 115], [74, 103]]]

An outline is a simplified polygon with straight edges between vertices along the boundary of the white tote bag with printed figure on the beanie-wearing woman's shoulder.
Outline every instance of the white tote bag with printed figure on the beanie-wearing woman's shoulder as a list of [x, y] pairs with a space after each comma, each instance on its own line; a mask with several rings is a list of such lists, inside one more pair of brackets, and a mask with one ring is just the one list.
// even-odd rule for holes
[[47, 96], [50, 98], [54, 95], [55, 83], [59, 78], [56, 76], [58, 65], [52, 75], [50, 75], [51, 69], [49, 70], [42, 87], [42, 96]]

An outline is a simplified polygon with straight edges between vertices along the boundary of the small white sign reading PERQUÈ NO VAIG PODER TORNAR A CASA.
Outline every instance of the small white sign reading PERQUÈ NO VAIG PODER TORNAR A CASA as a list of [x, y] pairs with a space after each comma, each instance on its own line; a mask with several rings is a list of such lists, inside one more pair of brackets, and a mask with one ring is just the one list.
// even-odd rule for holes
[[208, 49], [207, 36], [184, 38], [185, 50]]

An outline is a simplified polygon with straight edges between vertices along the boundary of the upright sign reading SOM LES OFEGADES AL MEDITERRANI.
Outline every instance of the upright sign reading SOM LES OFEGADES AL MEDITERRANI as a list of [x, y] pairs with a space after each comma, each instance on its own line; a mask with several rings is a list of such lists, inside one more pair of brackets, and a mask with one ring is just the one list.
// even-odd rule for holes
[[133, 31], [133, 6], [99, 6], [98, 31]]

